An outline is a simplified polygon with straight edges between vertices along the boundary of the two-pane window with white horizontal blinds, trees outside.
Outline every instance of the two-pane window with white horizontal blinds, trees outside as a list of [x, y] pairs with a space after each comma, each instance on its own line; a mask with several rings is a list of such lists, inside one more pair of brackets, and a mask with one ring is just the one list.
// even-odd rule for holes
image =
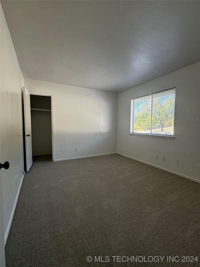
[[131, 133], [174, 134], [176, 89], [169, 89], [131, 99]]

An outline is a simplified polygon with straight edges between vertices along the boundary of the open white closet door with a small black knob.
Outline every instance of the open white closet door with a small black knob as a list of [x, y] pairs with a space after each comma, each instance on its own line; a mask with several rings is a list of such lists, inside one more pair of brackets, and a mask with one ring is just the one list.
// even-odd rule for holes
[[23, 101], [26, 146], [26, 171], [28, 172], [32, 166], [31, 101], [30, 93], [25, 87], [23, 87]]

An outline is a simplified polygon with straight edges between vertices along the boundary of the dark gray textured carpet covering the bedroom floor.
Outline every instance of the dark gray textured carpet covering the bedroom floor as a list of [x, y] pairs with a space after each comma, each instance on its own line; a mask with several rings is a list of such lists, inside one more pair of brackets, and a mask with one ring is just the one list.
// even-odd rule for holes
[[[129, 262], [113, 262], [117, 255]], [[167, 262], [168, 255], [179, 262]], [[110, 261], [94, 262], [95, 256]], [[165, 258], [131, 262], [131, 256]], [[198, 256], [198, 262], [184, 263], [182, 256]], [[59, 162], [35, 157], [19, 195], [6, 264], [199, 267], [200, 184], [118, 154]]]

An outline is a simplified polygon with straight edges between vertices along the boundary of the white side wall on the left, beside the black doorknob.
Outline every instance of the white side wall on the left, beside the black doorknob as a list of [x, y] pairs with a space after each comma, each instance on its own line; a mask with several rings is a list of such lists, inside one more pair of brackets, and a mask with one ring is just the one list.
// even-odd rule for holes
[[[1, 169], [4, 233], [7, 238], [24, 171], [22, 88], [23, 76], [1, 7]], [[17, 186], [15, 177], [17, 176]]]

